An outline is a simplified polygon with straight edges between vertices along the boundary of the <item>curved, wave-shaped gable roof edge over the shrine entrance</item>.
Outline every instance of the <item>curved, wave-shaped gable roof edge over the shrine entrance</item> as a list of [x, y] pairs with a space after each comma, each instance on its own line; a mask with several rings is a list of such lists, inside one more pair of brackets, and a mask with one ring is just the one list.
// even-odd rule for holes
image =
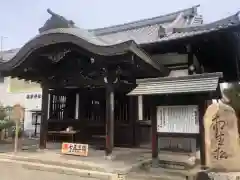
[[11, 60], [2, 62], [0, 71], [10, 71], [17, 67], [35, 50], [58, 43], [72, 43], [100, 56], [115, 56], [132, 52], [160, 74], [168, 74], [167, 68], [151, 60], [134, 41], [110, 44], [79, 28], [56, 28], [44, 31], [27, 42]]

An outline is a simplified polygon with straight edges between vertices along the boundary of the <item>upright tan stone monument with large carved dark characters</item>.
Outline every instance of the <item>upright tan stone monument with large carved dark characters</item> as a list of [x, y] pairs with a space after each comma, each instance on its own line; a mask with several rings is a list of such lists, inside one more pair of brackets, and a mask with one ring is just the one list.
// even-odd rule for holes
[[211, 104], [204, 115], [206, 166], [219, 171], [240, 170], [238, 119], [222, 102]]

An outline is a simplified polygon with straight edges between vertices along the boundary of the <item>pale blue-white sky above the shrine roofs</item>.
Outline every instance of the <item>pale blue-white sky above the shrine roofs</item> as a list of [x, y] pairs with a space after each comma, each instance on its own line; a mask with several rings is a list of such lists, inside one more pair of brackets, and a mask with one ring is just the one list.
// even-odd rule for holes
[[38, 33], [49, 18], [47, 8], [82, 28], [99, 28], [164, 15], [200, 4], [205, 22], [240, 10], [239, 0], [2, 0], [0, 36], [3, 49], [21, 47]]

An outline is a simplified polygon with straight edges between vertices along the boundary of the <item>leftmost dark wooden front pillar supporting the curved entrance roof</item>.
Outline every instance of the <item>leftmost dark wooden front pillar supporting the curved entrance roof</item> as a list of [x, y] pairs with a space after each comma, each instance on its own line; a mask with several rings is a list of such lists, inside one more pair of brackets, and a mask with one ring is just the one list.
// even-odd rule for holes
[[48, 92], [47, 84], [42, 84], [42, 117], [40, 126], [40, 143], [39, 148], [45, 149], [47, 144], [47, 131], [48, 131]]

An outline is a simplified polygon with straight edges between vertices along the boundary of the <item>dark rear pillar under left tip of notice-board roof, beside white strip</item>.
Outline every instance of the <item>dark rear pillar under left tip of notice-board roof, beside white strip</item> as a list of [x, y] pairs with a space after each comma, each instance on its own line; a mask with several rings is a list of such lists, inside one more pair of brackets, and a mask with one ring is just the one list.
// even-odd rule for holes
[[138, 96], [130, 96], [129, 97], [129, 120], [132, 125], [132, 145], [139, 145], [138, 128], [137, 128], [137, 120], [138, 120]]

